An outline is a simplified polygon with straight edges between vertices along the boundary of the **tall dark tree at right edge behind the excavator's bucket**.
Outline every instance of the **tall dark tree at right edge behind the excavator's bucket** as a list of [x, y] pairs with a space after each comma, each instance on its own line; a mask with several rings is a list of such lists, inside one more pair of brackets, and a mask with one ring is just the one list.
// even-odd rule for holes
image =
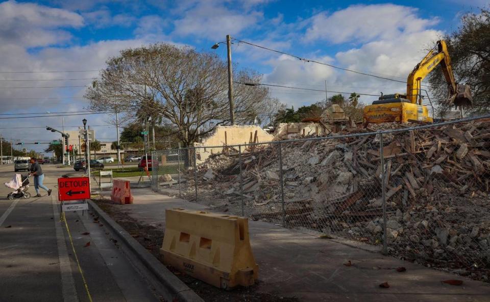
[[[490, 10], [482, 8], [479, 14], [468, 13], [461, 17], [461, 25], [451, 34], [442, 37], [448, 44], [451, 65], [456, 81], [468, 84], [473, 95], [470, 113], [490, 111]], [[451, 110], [448, 87], [438, 66], [428, 80], [433, 95], [438, 98], [441, 116]]]

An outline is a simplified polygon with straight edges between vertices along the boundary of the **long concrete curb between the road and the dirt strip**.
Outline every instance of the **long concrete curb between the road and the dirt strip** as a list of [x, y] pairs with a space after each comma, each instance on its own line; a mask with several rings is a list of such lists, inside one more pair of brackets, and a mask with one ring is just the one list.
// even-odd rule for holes
[[88, 204], [91, 210], [99, 216], [99, 219], [103, 220], [106, 225], [112, 228], [119, 239], [131, 249], [144, 267], [161, 283], [162, 287], [166, 290], [166, 295], [163, 297], [167, 301], [204, 302], [201, 297], [171, 273], [160, 261], [158, 261], [136, 239], [129, 235], [124, 228], [112, 220], [112, 218], [101, 210], [101, 208], [92, 200], [88, 200]]

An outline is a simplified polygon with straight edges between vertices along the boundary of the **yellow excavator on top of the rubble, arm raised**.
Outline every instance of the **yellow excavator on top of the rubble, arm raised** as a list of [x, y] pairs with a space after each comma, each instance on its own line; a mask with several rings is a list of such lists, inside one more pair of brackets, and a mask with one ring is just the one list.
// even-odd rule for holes
[[[436, 51], [437, 50], [437, 51]], [[448, 82], [448, 102], [456, 107], [471, 106], [470, 86], [454, 81], [451, 58], [444, 40], [437, 45], [413, 68], [407, 78], [407, 94], [384, 95], [372, 105], [364, 107], [364, 123], [432, 123], [427, 106], [422, 105], [422, 80], [440, 64]]]

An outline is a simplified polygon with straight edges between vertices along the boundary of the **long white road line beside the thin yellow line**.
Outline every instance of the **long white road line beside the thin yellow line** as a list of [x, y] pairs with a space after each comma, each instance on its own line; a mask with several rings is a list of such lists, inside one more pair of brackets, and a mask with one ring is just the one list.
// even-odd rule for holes
[[65, 235], [63, 228], [59, 221], [60, 213], [58, 212], [58, 203], [51, 196], [51, 203], [53, 204], [53, 215], [56, 229], [56, 243], [58, 245], [58, 258], [60, 260], [60, 272], [61, 272], [61, 291], [63, 293], [63, 301], [65, 302], [78, 302], [77, 289], [75, 288], [75, 281], [73, 280], [73, 274], [71, 273], [71, 263], [68, 257], [66, 249]]

